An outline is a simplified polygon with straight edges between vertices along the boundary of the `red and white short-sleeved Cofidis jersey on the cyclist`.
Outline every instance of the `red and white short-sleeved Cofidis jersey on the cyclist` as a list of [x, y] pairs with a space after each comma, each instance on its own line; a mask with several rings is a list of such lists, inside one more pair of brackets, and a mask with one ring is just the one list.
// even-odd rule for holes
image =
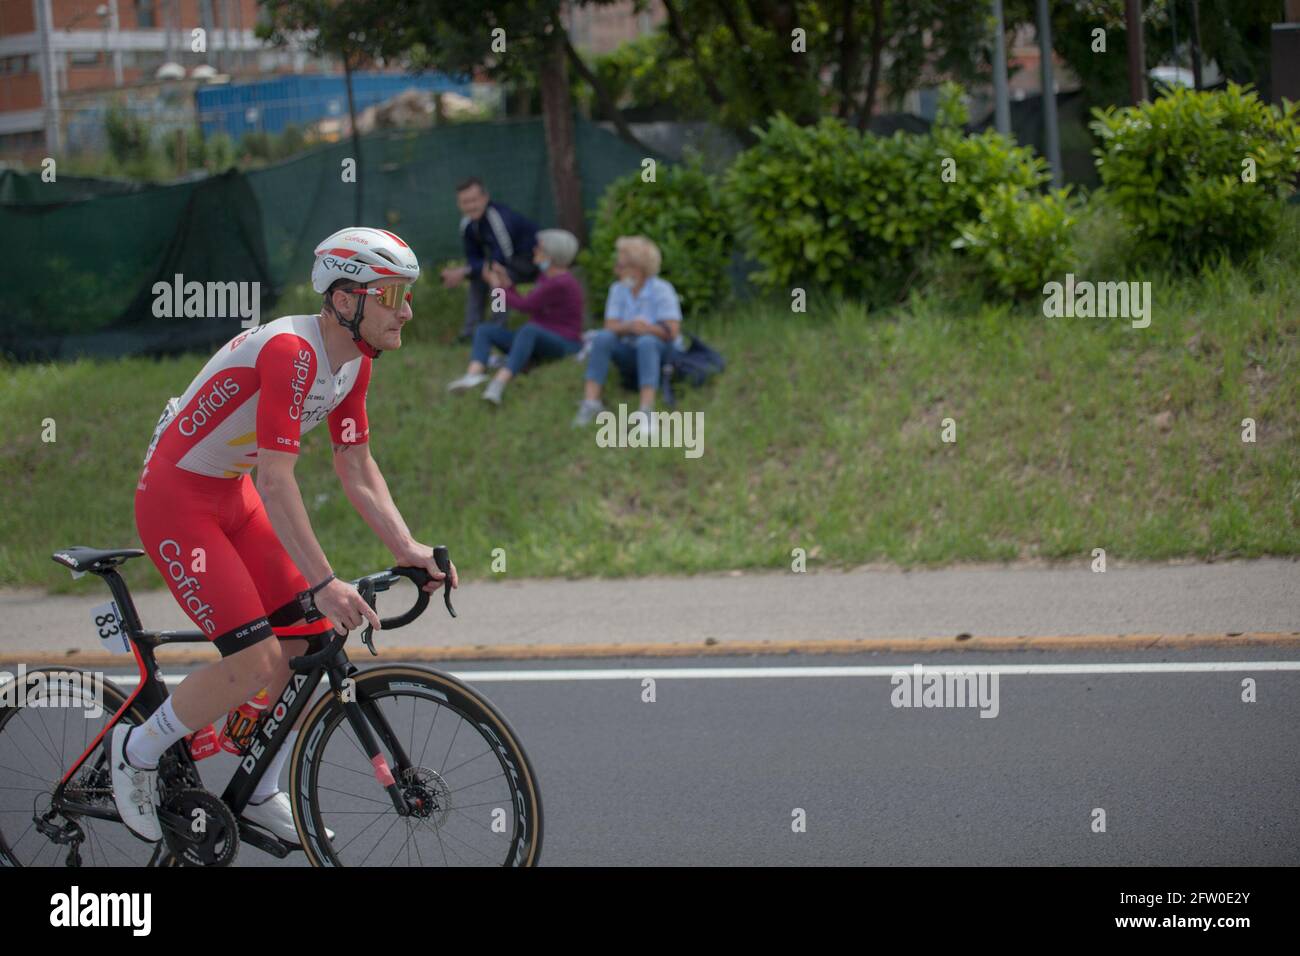
[[365, 442], [372, 360], [360, 355], [332, 375], [318, 321], [285, 316], [221, 346], [168, 403], [144, 464], [156, 454], [196, 475], [239, 477], [259, 447], [298, 454], [302, 436], [326, 418], [335, 445]]

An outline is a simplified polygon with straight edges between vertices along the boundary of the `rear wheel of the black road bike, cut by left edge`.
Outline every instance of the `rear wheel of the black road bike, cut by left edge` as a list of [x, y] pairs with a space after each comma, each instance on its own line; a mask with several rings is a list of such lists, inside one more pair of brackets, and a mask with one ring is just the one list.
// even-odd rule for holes
[[[62, 866], [73, 839], [82, 866], [144, 866], [155, 845], [122, 823], [78, 813], [51, 813], [55, 788], [91, 745], [126, 693], [98, 674], [70, 667], [35, 667], [6, 688], [0, 708], [0, 866]], [[130, 708], [121, 723], [138, 724]], [[116, 813], [103, 741], [64, 788], [64, 796]], [[38, 819], [46, 827], [38, 825]], [[79, 835], [81, 839], [75, 839]]]

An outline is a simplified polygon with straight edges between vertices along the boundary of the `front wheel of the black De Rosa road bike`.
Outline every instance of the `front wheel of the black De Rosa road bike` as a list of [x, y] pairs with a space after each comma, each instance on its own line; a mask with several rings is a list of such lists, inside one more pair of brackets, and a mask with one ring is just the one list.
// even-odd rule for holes
[[308, 860], [536, 865], [537, 777], [500, 711], [468, 684], [425, 667], [376, 667], [355, 680], [356, 702], [413, 812], [398, 813], [341, 702], [328, 693], [303, 722], [290, 761], [294, 821]]

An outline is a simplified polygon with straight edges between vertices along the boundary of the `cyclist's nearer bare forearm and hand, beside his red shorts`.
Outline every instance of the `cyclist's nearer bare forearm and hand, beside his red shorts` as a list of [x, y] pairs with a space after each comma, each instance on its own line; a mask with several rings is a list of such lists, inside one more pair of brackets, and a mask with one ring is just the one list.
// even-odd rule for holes
[[[261, 496], [276, 529], [276, 537], [285, 545], [294, 564], [312, 585], [329, 578], [332, 568], [325, 551], [316, 540], [303, 494], [298, 489], [294, 464], [298, 455], [272, 449], [257, 449], [257, 493]], [[348, 630], [360, 627], [363, 618], [378, 628], [380, 618], [374, 610], [356, 593], [356, 588], [343, 580], [333, 580], [316, 593], [316, 606], [335, 624]]]

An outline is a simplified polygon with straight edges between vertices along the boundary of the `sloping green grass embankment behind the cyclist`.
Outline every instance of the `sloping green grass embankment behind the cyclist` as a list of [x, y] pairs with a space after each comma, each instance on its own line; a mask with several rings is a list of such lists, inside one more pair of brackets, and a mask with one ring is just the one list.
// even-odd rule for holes
[[[792, 315], [777, 302], [711, 316], [696, 328], [729, 368], [684, 395], [705, 414], [698, 459], [601, 449], [594, 429], [572, 431], [572, 360], [519, 378], [500, 410], [448, 397], [467, 359], [446, 343], [462, 306], [429, 289], [406, 347], [377, 365], [373, 451], [417, 537], [448, 544], [469, 579], [493, 576], [495, 548], [508, 576], [788, 568], [793, 548], [810, 568], [1082, 562], [1093, 548], [1110, 559], [1295, 554], [1297, 213], [1256, 267], [1195, 280], [1135, 274], [1093, 237], [1080, 277], [1153, 281], [1141, 330], [935, 287], [871, 315], [844, 303]], [[55, 549], [136, 544], [140, 458], [162, 402], [202, 362], [4, 369], [0, 584], [69, 587]], [[940, 440], [945, 418], [956, 444]], [[1244, 418], [1254, 444], [1242, 441]], [[304, 498], [334, 566], [382, 566], [334, 479], [324, 427], [303, 451]], [[129, 580], [160, 585], [143, 562]]]

